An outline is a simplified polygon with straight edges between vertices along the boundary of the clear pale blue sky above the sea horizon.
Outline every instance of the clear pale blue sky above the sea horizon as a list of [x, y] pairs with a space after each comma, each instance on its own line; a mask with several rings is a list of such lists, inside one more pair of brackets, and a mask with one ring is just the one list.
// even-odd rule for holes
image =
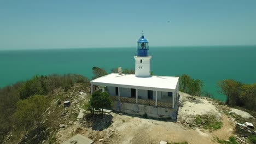
[[0, 50], [255, 45], [256, 1], [0, 0]]

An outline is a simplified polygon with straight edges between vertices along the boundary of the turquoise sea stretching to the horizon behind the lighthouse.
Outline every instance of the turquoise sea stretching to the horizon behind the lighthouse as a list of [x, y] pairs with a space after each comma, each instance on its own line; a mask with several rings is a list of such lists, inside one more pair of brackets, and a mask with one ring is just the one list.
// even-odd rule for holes
[[[155, 75], [188, 74], [203, 80], [203, 92], [225, 100], [217, 81], [256, 82], [256, 46], [150, 47]], [[91, 78], [91, 68], [135, 67], [136, 47], [0, 51], [0, 87], [33, 75], [81, 74]]]

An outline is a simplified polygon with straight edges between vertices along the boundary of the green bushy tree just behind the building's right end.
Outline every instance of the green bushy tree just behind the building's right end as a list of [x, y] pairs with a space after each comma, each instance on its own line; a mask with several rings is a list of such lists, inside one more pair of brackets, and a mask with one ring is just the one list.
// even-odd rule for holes
[[190, 95], [201, 95], [203, 82], [199, 79], [191, 79], [188, 75], [179, 77], [179, 90]]

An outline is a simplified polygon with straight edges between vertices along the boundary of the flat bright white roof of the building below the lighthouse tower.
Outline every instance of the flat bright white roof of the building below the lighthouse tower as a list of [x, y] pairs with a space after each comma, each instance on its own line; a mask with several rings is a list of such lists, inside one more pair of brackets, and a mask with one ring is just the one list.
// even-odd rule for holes
[[116, 73], [98, 77], [91, 81], [92, 85], [112, 86], [125, 88], [150, 89], [153, 91], [166, 91], [176, 89], [179, 77], [174, 76], [150, 76], [137, 77], [132, 74], [118, 75]]

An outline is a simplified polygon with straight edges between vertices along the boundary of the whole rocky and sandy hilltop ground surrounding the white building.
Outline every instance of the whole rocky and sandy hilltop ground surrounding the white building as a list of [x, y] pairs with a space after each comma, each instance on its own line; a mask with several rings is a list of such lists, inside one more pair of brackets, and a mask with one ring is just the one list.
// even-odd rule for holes
[[[255, 123], [255, 115], [219, 104], [210, 98], [192, 97], [180, 92], [184, 105], [179, 107], [177, 122], [168, 119], [150, 119], [125, 113], [105, 113], [91, 116], [84, 112], [84, 117], [77, 119], [83, 112], [83, 105], [88, 101], [89, 87], [81, 83], [71, 89], [56, 89], [51, 103], [60, 99], [46, 112], [44, 130], [40, 133], [21, 130], [20, 134], [10, 132], [4, 143], [62, 143], [75, 134], [82, 134], [95, 143], [218, 143], [236, 137], [240, 143], [248, 143], [248, 137], [237, 133], [232, 117], [238, 122]], [[71, 105], [64, 108], [63, 101], [70, 100]], [[216, 125], [206, 125], [206, 121]], [[241, 139], [241, 140], [239, 140]]]

